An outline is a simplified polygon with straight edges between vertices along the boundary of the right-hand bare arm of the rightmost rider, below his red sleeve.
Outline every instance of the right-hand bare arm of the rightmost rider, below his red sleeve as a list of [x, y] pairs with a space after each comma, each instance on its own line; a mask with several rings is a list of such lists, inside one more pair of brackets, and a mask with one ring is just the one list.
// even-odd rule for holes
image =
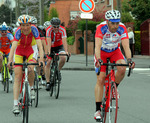
[[131, 50], [129, 48], [129, 39], [123, 39], [122, 41], [122, 46], [126, 55], [126, 58], [131, 58]]

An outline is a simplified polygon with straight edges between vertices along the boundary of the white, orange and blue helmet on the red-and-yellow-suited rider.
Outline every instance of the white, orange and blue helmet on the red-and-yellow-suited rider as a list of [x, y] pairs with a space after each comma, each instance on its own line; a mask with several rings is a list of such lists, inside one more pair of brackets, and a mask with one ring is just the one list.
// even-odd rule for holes
[[19, 24], [31, 23], [31, 16], [29, 15], [20, 15], [18, 18]]

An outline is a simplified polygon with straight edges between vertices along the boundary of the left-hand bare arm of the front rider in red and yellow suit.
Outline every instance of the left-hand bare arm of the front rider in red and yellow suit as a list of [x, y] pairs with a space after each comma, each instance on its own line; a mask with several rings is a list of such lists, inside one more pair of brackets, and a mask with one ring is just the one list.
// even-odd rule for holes
[[15, 52], [17, 45], [18, 45], [18, 41], [12, 42], [12, 47], [10, 49], [10, 54], [9, 54], [9, 63], [13, 62], [13, 56], [14, 56], [14, 52]]

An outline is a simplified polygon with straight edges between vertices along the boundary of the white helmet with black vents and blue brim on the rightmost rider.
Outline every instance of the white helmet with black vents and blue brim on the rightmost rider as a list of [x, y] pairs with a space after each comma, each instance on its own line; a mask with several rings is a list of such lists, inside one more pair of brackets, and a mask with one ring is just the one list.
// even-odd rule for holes
[[120, 22], [121, 14], [118, 10], [109, 10], [105, 13], [105, 18], [111, 22]]

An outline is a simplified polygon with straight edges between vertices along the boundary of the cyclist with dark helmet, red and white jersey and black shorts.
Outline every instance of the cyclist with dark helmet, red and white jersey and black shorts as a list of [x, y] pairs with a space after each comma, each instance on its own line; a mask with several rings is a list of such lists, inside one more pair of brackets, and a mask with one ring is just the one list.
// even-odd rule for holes
[[[68, 54], [67, 52], [67, 35], [66, 30], [61, 26], [61, 21], [57, 17], [51, 19], [51, 25], [46, 29], [46, 37], [48, 43], [48, 54], [51, 54], [53, 51], [59, 54]], [[46, 90], [49, 91], [53, 83], [50, 82], [50, 64], [52, 57], [47, 56], [48, 61], [46, 65]], [[59, 70], [64, 66], [66, 56], [61, 56], [59, 61]], [[60, 74], [60, 72], [59, 72]], [[61, 76], [61, 75], [60, 75]], [[61, 79], [61, 77], [60, 77]]]

